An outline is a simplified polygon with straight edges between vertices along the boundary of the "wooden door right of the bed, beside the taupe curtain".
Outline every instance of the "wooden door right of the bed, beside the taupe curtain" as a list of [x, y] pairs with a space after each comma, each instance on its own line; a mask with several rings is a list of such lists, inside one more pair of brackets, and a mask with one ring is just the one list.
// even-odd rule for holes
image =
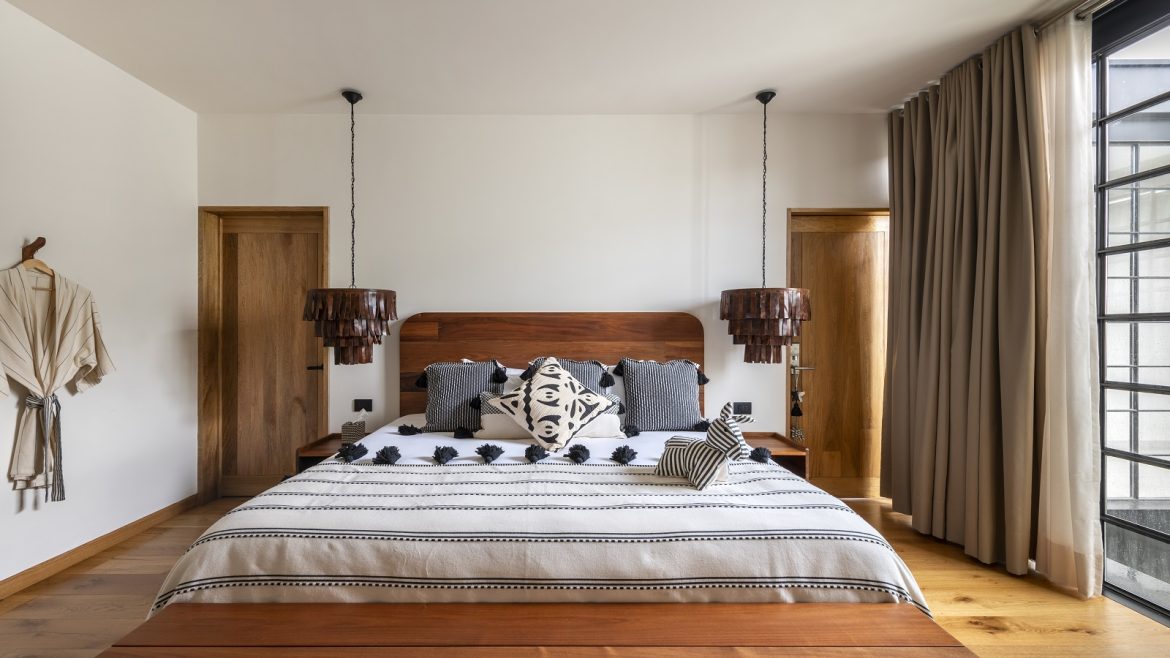
[[888, 227], [885, 210], [789, 211], [789, 285], [812, 300], [799, 355], [814, 369], [800, 372], [804, 416], [790, 421], [805, 433], [810, 480], [838, 496], [878, 495]]

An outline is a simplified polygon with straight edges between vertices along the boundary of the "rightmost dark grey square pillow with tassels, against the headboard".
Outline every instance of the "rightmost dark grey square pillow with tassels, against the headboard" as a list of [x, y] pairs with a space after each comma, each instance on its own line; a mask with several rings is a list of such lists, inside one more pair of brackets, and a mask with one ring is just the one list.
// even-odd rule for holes
[[694, 362], [622, 358], [614, 373], [625, 381], [626, 427], [641, 432], [706, 431], [700, 427], [698, 386], [707, 377]]

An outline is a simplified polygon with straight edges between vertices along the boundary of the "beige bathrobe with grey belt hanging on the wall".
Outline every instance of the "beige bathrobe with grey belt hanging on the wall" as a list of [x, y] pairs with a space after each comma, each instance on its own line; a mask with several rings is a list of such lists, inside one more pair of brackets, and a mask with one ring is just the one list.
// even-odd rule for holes
[[46, 488], [51, 500], [64, 499], [56, 392], [68, 386], [80, 393], [112, 370], [89, 290], [61, 274], [0, 270], [0, 371], [25, 389], [8, 468], [13, 488]]

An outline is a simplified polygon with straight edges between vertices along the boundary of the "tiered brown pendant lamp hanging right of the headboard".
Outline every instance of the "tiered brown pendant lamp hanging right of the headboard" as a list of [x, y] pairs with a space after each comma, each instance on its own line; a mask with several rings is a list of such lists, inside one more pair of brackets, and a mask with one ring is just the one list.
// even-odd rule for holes
[[783, 363], [784, 345], [791, 345], [800, 335], [800, 323], [812, 318], [808, 290], [768, 287], [768, 103], [775, 97], [771, 90], [756, 94], [764, 107], [759, 288], [723, 290], [720, 295], [720, 320], [728, 321], [731, 343], [744, 347], [746, 363]]

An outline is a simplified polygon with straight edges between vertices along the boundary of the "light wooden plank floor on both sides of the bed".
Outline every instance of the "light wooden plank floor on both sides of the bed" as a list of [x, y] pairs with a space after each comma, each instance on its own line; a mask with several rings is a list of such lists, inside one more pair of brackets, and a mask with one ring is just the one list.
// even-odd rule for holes
[[[140, 624], [171, 564], [241, 499], [157, 526], [0, 601], [0, 658], [92, 657]], [[880, 500], [849, 501], [885, 534], [935, 618], [979, 656], [1166, 656], [1170, 629], [1106, 598], [1079, 601], [922, 537]]]

